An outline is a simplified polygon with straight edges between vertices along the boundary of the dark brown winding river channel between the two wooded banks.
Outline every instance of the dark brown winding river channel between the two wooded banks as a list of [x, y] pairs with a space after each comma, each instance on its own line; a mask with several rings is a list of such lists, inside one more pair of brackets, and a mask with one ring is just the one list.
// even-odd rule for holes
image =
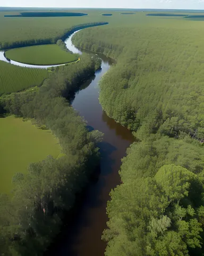
[[[75, 53], [81, 53], [71, 43], [70, 36], [66, 41], [67, 48]], [[66, 228], [66, 223], [55, 243], [50, 247], [46, 255], [58, 256], [102, 256], [106, 243], [101, 241], [101, 234], [106, 228], [106, 205], [109, 200], [109, 192], [120, 184], [118, 170], [121, 166], [121, 158], [125, 156], [126, 148], [133, 142], [131, 132], [109, 118], [99, 104], [98, 82], [112, 61], [104, 55], [101, 70], [95, 77], [84, 83], [75, 94], [72, 106], [81, 116], [87, 120], [91, 129], [104, 133], [104, 141], [100, 144], [101, 161], [100, 174], [95, 182], [84, 191], [83, 200], [79, 203], [74, 218]]]

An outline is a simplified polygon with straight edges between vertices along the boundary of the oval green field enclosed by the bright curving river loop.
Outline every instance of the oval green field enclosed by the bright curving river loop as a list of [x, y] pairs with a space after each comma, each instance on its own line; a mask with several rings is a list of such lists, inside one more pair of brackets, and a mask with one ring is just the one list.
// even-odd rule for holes
[[6, 57], [33, 65], [57, 65], [78, 60], [78, 57], [63, 51], [56, 44], [21, 47], [6, 51]]

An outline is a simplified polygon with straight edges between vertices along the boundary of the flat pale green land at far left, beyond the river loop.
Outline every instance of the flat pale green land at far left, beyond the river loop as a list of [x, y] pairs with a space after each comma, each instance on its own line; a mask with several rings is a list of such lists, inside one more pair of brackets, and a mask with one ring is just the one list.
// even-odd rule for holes
[[87, 13], [86, 17], [7, 18], [4, 15], [16, 12], [1, 12], [0, 50], [55, 44], [58, 39], [65, 39], [73, 31], [103, 24], [104, 17], [98, 15], [99, 11], [89, 10]]

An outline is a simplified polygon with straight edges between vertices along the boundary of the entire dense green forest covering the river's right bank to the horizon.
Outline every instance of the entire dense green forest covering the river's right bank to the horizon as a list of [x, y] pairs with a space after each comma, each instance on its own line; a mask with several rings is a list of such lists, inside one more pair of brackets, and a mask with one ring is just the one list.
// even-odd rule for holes
[[110, 194], [105, 255], [203, 255], [203, 23], [138, 15], [73, 37], [116, 60], [99, 100], [137, 140]]

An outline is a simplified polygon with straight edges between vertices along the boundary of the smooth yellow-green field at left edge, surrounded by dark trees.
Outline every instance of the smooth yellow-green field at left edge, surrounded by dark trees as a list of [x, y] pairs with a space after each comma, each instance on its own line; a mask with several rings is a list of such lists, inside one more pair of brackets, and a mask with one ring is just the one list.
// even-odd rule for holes
[[60, 154], [60, 145], [52, 133], [37, 129], [30, 121], [13, 116], [0, 118], [0, 134], [0, 193], [10, 193], [13, 175], [26, 173], [30, 162]]

